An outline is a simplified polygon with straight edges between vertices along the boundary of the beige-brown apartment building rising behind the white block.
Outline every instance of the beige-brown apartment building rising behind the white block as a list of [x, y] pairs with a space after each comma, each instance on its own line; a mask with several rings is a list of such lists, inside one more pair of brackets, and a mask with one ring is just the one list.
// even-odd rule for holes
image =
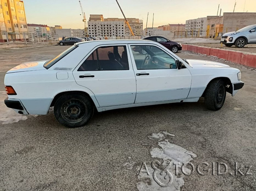
[[[133, 34], [135, 36], [141, 36], [143, 35], [143, 20], [136, 19], [136, 18], [126, 18], [126, 20], [129, 22], [131, 30], [133, 30]], [[119, 19], [119, 18], [106, 18], [104, 21], [121, 21], [125, 22], [125, 19]], [[128, 25], [125, 22], [125, 34], [131, 36], [130, 29]]]

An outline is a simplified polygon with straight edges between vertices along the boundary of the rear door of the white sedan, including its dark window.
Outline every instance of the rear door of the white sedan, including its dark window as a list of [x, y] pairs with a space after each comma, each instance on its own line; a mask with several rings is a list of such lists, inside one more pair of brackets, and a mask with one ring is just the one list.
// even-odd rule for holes
[[76, 83], [90, 89], [100, 107], [135, 101], [136, 80], [127, 49], [126, 44], [97, 46], [73, 71]]

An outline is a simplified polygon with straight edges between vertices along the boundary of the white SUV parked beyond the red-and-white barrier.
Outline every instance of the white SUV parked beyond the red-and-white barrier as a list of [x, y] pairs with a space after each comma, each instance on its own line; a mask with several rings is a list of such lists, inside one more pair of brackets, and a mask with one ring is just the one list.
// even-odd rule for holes
[[243, 48], [247, 44], [256, 44], [256, 24], [249, 25], [237, 31], [224, 33], [220, 39], [220, 43], [223, 43], [227, 47], [235, 45], [237, 48]]

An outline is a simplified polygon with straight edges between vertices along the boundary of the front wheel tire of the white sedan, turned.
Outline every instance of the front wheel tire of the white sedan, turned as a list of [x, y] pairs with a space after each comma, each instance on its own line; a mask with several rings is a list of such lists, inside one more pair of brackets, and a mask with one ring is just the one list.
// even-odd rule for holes
[[222, 108], [226, 98], [226, 84], [223, 80], [214, 80], [208, 84], [204, 95], [204, 103], [209, 110]]

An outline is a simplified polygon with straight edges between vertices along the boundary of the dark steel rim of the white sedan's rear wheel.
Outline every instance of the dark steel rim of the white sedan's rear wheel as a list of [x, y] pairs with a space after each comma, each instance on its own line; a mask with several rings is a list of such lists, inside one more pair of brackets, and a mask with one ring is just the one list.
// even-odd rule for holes
[[63, 103], [60, 113], [66, 121], [78, 123], [87, 116], [86, 104], [78, 99], [70, 99]]

